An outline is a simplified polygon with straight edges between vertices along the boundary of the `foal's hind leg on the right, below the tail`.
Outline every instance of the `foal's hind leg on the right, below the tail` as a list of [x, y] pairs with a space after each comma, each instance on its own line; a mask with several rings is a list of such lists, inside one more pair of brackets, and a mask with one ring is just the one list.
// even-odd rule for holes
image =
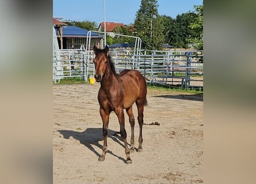
[[138, 116], [137, 120], [139, 121], [139, 126], [140, 126], [140, 135], [139, 135], [139, 147], [138, 147], [138, 152], [142, 151], [142, 143], [143, 143], [143, 138], [142, 138], [142, 126], [143, 126], [143, 112], [144, 112], [144, 104], [145, 100], [143, 98], [137, 99], [136, 105], [137, 105], [137, 110], [138, 110]]

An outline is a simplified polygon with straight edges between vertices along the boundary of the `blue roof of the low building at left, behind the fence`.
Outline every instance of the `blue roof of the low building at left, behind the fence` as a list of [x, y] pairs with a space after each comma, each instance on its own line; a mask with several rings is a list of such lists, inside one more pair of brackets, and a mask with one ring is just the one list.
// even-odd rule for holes
[[[78, 28], [77, 26], [68, 25], [63, 27], [63, 37], [87, 37], [89, 30]], [[91, 37], [103, 37], [100, 34], [91, 32]]]

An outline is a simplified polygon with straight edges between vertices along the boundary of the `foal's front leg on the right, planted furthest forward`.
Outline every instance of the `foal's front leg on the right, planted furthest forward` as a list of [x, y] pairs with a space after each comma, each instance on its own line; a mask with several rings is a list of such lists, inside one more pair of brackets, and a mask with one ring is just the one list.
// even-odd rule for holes
[[126, 155], [126, 163], [129, 164], [129, 163], [132, 163], [132, 160], [131, 160], [131, 157], [130, 157], [130, 150], [128, 148], [128, 144], [127, 144], [127, 133], [125, 131], [125, 128], [124, 128], [124, 109], [123, 108], [117, 108], [115, 111], [114, 111], [119, 119], [119, 124], [120, 124], [120, 134], [121, 134], [121, 137], [123, 138], [123, 141], [124, 141], [124, 146], [125, 146], [125, 155]]

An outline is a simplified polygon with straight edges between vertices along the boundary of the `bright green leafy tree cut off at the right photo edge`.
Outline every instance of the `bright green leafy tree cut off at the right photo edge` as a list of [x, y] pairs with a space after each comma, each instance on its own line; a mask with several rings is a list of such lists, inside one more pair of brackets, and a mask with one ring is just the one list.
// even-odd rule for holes
[[190, 37], [190, 43], [196, 43], [197, 48], [203, 49], [203, 6], [202, 5], [194, 5], [194, 9], [196, 10], [196, 17], [194, 17], [193, 21], [190, 23], [190, 28], [193, 30], [194, 35]]

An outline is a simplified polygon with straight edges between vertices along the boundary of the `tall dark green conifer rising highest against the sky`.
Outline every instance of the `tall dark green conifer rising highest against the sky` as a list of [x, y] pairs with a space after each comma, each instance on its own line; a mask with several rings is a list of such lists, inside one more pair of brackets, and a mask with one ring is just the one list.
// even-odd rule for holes
[[134, 31], [142, 39], [143, 48], [159, 49], [165, 41], [158, 6], [156, 0], [142, 0], [136, 13]]

